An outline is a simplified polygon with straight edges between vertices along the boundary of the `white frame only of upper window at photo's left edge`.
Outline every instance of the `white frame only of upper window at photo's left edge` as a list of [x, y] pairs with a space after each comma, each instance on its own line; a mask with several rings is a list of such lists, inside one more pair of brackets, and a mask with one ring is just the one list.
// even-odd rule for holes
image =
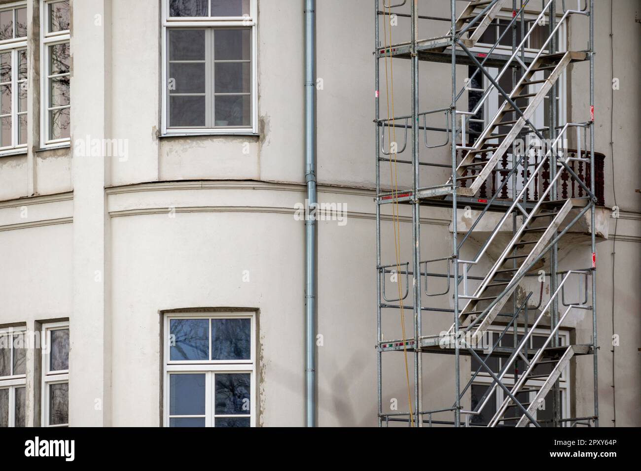
[[[26, 1], [18, 1], [0, 5], [0, 12], [6, 10], [17, 10], [18, 8], [27, 8]], [[27, 19], [29, 20], [29, 19]], [[15, 36], [15, 13], [13, 13], [13, 31]], [[0, 52], [11, 51], [11, 135], [12, 145], [3, 145], [0, 147], [0, 155], [14, 154], [16, 151], [26, 151], [27, 143], [18, 144], [19, 140], [19, 115], [29, 115], [28, 110], [18, 112], [19, 101], [19, 84], [26, 83], [28, 79], [18, 80], [18, 53], [22, 49], [27, 49], [27, 37], [12, 38], [0, 41]], [[29, 119], [29, 118], [27, 118]]]

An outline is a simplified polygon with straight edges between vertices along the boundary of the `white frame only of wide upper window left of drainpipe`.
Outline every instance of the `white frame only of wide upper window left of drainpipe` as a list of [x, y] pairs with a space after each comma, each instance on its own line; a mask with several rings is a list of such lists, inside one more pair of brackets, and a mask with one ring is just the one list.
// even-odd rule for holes
[[[258, 19], [258, 0], [249, 0], [249, 17], [169, 17], [169, 0], [163, 0], [162, 12], [162, 74], [161, 74], [161, 117], [160, 128], [162, 135], [256, 135], [258, 133], [258, 34], [256, 25]], [[167, 116], [167, 85], [169, 76], [167, 67], [167, 28], [188, 27], [251, 27], [251, 126], [237, 128], [168, 128]], [[212, 110], [213, 112], [213, 110]]]

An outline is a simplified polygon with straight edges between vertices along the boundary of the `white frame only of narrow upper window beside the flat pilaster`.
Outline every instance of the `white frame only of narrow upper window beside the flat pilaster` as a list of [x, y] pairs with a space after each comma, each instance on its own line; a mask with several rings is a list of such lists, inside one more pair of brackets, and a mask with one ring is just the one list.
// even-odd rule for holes
[[[40, 0], [40, 147], [42, 147], [42, 149], [71, 145], [71, 137], [49, 139], [49, 46], [69, 43], [71, 56], [71, 31], [64, 29], [62, 31], [54, 31], [53, 33], [49, 32], [49, 5], [62, 1], [64, 0]], [[71, 28], [71, 4], [69, 15], [69, 26]], [[70, 78], [71, 67], [72, 64], [70, 60]], [[60, 106], [58, 108], [69, 108], [71, 110], [71, 103], [69, 106]], [[69, 120], [71, 122], [71, 111], [69, 113]]]

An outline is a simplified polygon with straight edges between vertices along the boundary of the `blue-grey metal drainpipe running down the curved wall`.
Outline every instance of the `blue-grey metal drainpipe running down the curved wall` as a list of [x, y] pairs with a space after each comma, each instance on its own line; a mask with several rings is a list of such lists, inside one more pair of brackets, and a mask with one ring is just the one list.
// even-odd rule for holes
[[305, 219], [305, 415], [315, 427], [316, 404], [316, 0], [305, 0], [305, 182], [310, 217]]

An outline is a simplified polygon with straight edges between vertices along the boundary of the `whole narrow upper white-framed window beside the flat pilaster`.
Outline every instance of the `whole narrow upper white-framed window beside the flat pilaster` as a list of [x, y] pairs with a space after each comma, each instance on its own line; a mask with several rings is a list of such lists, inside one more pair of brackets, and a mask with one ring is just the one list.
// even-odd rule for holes
[[71, 136], [69, 0], [41, 0], [41, 147], [65, 145]]

